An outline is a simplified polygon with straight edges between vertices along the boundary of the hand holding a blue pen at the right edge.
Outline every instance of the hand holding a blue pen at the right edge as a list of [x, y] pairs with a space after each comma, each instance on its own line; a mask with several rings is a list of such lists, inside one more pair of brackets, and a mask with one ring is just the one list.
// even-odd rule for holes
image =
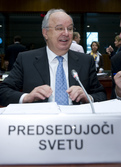
[[114, 76], [114, 80], [116, 84], [116, 94], [121, 97], [121, 71]]

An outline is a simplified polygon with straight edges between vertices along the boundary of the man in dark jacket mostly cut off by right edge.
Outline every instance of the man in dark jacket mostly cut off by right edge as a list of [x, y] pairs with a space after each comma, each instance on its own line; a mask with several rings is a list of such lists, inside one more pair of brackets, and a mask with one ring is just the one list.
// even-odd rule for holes
[[[120, 15], [120, 30], [121, 30], [121, 15]], [[121, 39], [121, 31], [119, 34]], [[111, 98], [121, 100], [121, 51], [111, 58], [112, 66], [112, 95]]]

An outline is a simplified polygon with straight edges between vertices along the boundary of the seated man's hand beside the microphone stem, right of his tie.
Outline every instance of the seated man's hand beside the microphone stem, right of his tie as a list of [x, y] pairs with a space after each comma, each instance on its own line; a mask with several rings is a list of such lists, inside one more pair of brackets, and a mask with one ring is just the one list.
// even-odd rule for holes
[[83, 103], [88, 103], [88, 99], [86, 94], [84, 93], [83, 89], [80, 86], [71, 86], [68, 90], [67, 93], [69, 94], [69, 97], [72, 101], [76, 102], [83, 102]]

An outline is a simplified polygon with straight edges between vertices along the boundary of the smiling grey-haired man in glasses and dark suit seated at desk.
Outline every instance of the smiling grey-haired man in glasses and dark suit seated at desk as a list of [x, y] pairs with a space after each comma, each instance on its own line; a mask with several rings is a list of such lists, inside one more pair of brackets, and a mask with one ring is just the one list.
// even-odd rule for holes
[[[104, 88], [96, 75], [94, 59], [69, 50], [73, 37], [72, 18], [61, 9], [50, 10], [42, 22], [42, 33], [47, 46], [19, 53], [14, 68], [0, 85], [0, 104], [6, 106], [10, 103], [56, 101], [58, 57], [63, 57], [67, 81], [67, 90], [64, 93], [68, 95], [68, 104], [89, 102], [72, 77], [72, 69], [78, 72], [93, 101], [106, 100]], [[63, 87], [63, 84], [61, 86]]]

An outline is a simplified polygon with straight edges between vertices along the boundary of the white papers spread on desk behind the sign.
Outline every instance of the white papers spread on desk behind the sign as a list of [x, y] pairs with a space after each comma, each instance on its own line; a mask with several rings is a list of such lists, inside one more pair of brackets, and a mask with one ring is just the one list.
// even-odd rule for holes
[[[96, 114], [121, 114], [121, 100], [93, 103]], [[92, 114], [90, 104], [61, 106], [55, 102], [10, 104], [0, 114]]]

